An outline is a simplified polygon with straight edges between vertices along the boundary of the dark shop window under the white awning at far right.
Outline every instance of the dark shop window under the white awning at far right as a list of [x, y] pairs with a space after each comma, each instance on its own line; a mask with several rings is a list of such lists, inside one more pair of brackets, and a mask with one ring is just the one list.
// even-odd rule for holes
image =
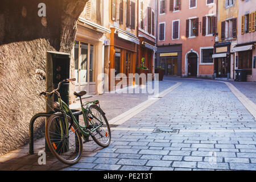
[[251, 70], [253, 67], [253, 52], [241, 51], [238, 53], [238, 69], [246, 69], [247, 75], [251, 75]]

